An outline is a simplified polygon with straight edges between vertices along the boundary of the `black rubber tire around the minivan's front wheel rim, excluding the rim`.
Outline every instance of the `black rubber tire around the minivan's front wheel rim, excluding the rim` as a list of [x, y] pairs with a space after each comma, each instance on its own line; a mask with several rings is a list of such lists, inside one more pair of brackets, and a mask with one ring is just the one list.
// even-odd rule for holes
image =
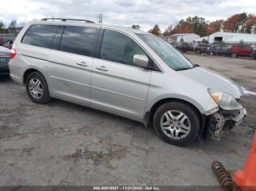
[[[161, 128], [161, 125], [160, 125], [161, 117], [163, 114], [165, 114], [165, 112], [170, 110], [183, 112], [184, 114], [187, 115], [190, 121], [190, 125], [191, 125], [190, 131], [187, 134], [187, 136], [185, 136], [182, 139], [181, 139], [181, 136], [179, 136], [180, 139], [170, 138], [163, 132]], [[193, 141], [195, 141], [195, 139], [197, 139], [200, 133], [200, 117], [197, 111], [192, 106], [189, 106], [189, 104], [185, 104], [183, 102], [178, 102], [178, 101], [170, 101], [165, 104], [162, 104], [162, 106], [159, 106], [157, 111], [154, 113], [153, 125], [154, 125], [154, 130], [156, 131], [157, 135], [161, 139], [163, 139], [169, 144], [173, 144], [179, 147], [187, 146], [191, 144]]]

